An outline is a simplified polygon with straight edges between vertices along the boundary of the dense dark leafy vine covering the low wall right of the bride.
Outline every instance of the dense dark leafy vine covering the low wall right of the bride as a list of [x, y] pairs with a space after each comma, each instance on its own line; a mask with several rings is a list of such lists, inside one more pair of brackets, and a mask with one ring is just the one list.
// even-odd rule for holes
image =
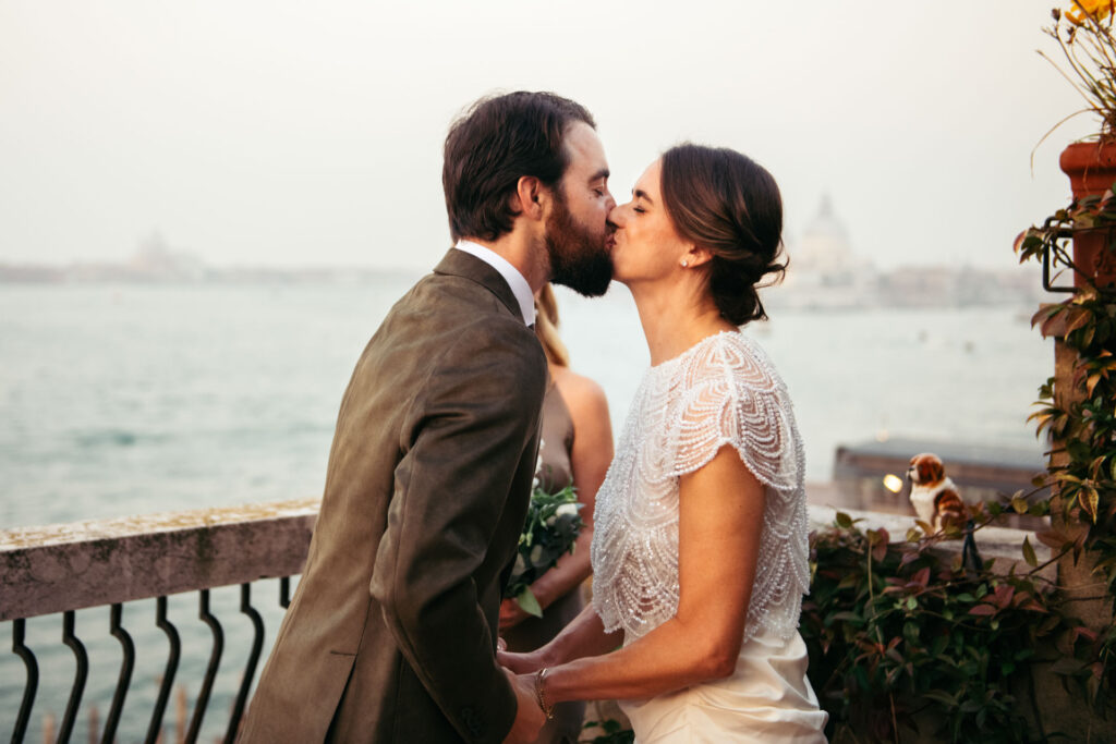
[[811, 533], [799, 630], [830, 741], [1042, 742], [1056, 733], [1038, 713], [1036, 665], [1080, 683], [1096, 641], [1062, 611], [1049, 578], [1061, 553], [1040, 563], [1024, 541], [1022, 566], [1001, 570], [941, 550], [1006, 511], [1043, 510], [1017, 494], [971, 508], [966, 530], [912, 529], [893, 541], [839, 513]]

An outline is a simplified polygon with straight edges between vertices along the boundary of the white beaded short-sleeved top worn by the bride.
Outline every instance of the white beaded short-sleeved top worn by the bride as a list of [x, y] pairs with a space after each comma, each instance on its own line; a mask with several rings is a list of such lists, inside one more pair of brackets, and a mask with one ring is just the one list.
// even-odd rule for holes
[[805, 456], [787, 388], [756, 341], [710, 336], [647, 370], [597, 493], [593, 606], [625, 644], [679, 607], [679, 477], [725, 444], [764, 486], [744, 640], [795, 634], [809, 589]]

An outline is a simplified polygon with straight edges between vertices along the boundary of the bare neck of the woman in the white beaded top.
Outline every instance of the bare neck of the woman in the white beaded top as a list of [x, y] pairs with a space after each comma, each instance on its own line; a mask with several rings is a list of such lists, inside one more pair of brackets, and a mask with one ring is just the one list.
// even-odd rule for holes
[[673, 359], [698, 341], [735, 326], [721, 317], [704, 286], [629, 287], [652, 366]]

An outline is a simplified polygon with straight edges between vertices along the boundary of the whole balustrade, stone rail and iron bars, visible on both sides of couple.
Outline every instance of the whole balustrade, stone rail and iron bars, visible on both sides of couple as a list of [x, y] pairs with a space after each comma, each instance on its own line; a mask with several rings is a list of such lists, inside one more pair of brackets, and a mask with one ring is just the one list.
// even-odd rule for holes
[[[165, 514], [128, 516], [110, 520], [74, 522], [49, 526], [19, 528], [0, 532], [0, 621], [12, 622], [12, 651], [27, 667], [27, 686], [19, 711], [4, 711], [2, 718], [16, 717], [12, 741], [22, 741], [27, 731], [29, 712], [38, 685], [38, 667], [33, 654], [23, 645], [23, 624], [27, 618], [62, 613], [64, 642], [78, 659], [78, 671], [73, 683], [70, 703], [60, 731], [65, 738], [73, 731], [74, 718], [84, 687], [80, 641], [74, 636], [74, 612], [89, 607], [108, 607], [113, 611], [113, 635], [121, 638], [124, 664], [121, 682], [114, 696], [113, 711], [106, 724], [106, 741], [119, 719], [121, 707], [131, 684], [131, 639], [119, 626], [121, 606], [133, 600], [156, 598], [158, 627], [166, 622], [167, 596], [198, 591], [202, 611], [199, 617], [211, 627], [215, 620], [206, 619], [209, 590], [215, 587], [240, 584], [241, 611], [253, 615], [249, 587], [260, 579], [283, 579], [286, 606], [287, 577], [301, 572], [309, 545], [318, 500], [302, 499], [268, 504], [251, 504], [225, 509], [205, 509]], [[884, 528], [893, 540], [902, 539], [913, 526], [910, 516], [843, 510], [860, 525], [868, 529]], [[833, 523], [836, 510], [810, 505], [810, 529]], [[997, 568], [1008, 571], [1022, 561], [1023, 538], [1030, 534], [1020, 530], [985, 528], [980, 531], [978, 544], [987, 560], [997, 559]], [[1048, 557], [1048, 549], [1032, 539], [1040, 561]], [[960, 551], [960, 541], [944, 542], [943, 551]], [[1054, 570], [1054, 567], [1050, 567]], [[1052, 574], [1051, 574], [1052, 578]], [[258, 616], [252, 654], [240, 693], [230, 716], [225, 738], [234, 737], [235, 728], [247, 704], [253, 682], [257, 660], [266, 657], [262, 649], [262, 627]], [[154, 741], [162, 731], [163, 708], [170, 695], [169, 685], [177, 666], [177, 640], [173, 627], [166, 630], [171, 638], [171, 659], [164, 675], [163, 688], [152, 714], [148, 738]], [[123, 634], [123, 638], [118, 632]], [[127, 638], [127, 640], [125, 640]], [[204, 715], [212, 676], [221, 656], [220, 626], [213, 631], [213, 650], [206, 680], [196, 696], [194, 723], [191, 732], [196, 736]], [[7, 667], [3, 665], [7, 664]], [[19, 660], [9, 656], [0, 659], [0, 668], [18, 670]], [[86, 661], [87, 665], [87, 661]], [[119, 704], [118, 704], [119, 703]], [[10, 706], [10, 702], [0, 700]], [[190, 736], [186, 736], [187, 741]]]

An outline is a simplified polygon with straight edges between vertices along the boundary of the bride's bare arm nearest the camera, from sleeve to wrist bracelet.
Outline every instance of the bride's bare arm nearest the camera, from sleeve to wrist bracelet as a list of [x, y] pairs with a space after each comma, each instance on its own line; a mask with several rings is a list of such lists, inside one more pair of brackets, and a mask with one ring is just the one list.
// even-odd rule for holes
[[613, 654], [548, 668], [548, 703], [642, 699], [732, 675], [756, 578], [763, 486], [727, 445], [682, 476], [679, 501], [677, 615]]

